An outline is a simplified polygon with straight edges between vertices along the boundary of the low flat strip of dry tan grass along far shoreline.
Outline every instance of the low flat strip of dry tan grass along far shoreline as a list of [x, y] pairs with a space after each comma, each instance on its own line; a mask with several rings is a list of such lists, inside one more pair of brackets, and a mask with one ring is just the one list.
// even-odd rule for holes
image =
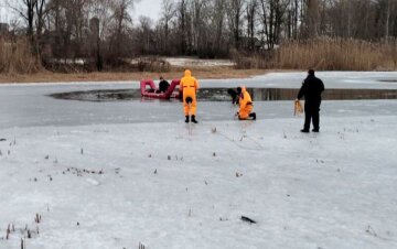
[[[234, 69], [233, 67], [197, 67], [190, 68], [197, 79], [204, 78], [245, 78], [255, 75], [266, 74], [265, 69]], [[171, 68], [165, 73], [82, 73], [82, 74], [58, 74], [40, 72], [31, 75], [6, 75], [0, 74], [0, 83], [60, 83], [60, 82], [125, 82], [140, 80], [143, 78], [158, 79], [162, 75], [167, 79], [181, 78], [184, 68]]]

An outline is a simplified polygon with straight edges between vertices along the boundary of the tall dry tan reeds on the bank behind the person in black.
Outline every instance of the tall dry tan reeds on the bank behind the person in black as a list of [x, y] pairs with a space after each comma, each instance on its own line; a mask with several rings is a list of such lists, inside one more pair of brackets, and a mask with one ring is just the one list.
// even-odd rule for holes
[[396, 46], [396, 41], [386, 43], [326, 37], [292, 41], [277, 51], [273, 65], [288, 69], [394, 71], [397, 68]]

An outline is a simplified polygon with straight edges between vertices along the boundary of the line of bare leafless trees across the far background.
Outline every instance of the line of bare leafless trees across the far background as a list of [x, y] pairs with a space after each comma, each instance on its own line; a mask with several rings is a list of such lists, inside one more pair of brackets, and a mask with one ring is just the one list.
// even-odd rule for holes
[[158, 17], [135, 18], [137, 1], [9, 6], [24, 20], [31, 51], [44, 63], [87, 58], [99, 71], [141, 55], [218, 58], [323, 36], [385, 42], [397, 36], [397, 0], [162, 0]]

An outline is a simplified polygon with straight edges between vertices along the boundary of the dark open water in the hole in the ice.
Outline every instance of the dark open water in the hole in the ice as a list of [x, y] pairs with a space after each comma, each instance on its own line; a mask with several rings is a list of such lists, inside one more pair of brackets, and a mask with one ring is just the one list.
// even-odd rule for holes
[[[291, 100], [299, 89], [288, 88], [248, 88], [256, 101]], [[88, 90], [53, 94], [56, 99], [81, 101], [127, 101], [141, 100], [140, 89]], [[326, 89], [323, 100], [354, 100], [354, 99], [397, 99], [397, 89]], [[201, 88], [197, 98], [201, 101], [230, 101], [227, 88]], [[148, 99], [148, 98], [143, 98]]]

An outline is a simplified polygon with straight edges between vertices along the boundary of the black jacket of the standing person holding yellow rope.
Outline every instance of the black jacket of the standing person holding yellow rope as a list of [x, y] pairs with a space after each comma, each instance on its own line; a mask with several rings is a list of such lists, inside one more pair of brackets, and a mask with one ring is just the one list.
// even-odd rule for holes
[[302, 87], [298, 94], [298, 99], [301, 99], [304, 96], [305, 104], [320, 105], [323, 90], [323, 82], [314, 75], [309, 75], [303, 80]]

